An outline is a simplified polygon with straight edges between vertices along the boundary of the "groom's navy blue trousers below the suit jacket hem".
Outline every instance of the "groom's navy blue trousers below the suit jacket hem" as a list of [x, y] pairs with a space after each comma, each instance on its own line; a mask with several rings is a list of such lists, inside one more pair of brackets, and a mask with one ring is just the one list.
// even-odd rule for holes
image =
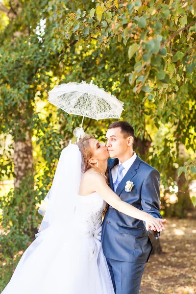
[[139, 294], [146, 264], [107, 258], [115, 294]]

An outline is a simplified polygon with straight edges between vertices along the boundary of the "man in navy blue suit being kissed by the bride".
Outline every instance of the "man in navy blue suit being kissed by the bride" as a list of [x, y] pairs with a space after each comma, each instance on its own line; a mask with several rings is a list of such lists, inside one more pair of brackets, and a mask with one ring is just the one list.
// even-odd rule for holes
[[[160, 174], [133, 151], [134, 129], [124, 121], [110, 124], [106, 133], [110, 157], [110, 188], [125, 202], [162, 218], [159, 213]], [[127, 181], [132, 189], [125, 191]], [[127, 190], [127, 189], [126, 189]], [[160, 233], [151, 232], [156, 238]], [[102, 227], [102, 247], [116, 294], [138, 294], [152, 251], [143, 221], [108, 207]]]

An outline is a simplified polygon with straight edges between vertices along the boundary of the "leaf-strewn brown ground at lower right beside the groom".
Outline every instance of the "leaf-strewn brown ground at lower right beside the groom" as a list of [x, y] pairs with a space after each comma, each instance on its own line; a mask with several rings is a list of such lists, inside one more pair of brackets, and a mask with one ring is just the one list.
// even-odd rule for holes
[[196, 219], [168, 219], [163, 253], [151, 255], [140, 294], [196, 294]]

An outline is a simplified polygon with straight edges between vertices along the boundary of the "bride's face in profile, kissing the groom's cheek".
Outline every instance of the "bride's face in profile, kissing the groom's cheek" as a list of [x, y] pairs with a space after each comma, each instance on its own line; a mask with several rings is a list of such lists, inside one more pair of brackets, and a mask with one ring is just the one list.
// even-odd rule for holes
[[95, 160], [106, 160], [110, 155], [107, 150], [106, 143], [100, 143], [96, 139], [90, 139], [89, 145], [93, 153], [93, 159]]

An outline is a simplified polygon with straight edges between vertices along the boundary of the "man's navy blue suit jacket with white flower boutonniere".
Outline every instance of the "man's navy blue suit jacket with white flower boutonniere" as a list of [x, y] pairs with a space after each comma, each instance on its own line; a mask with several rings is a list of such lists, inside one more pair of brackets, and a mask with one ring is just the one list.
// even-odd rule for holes
[[[118, 159], [108, 160], [110, 188], [114, 191], [111, 169]], [[134, 183], [131, 192], [124, 187], [127, 181]], [[125, 202], [143, 210], [156, 218], [160, 204], [160, 173], [140, 159], [137, 155], [116, 190], [116, 194]], [[109, 206], [103, 220], [102, 248], [106, 258], [146, 263], [152, 251], [149, 232], [143, 221], [129, 217]]]

